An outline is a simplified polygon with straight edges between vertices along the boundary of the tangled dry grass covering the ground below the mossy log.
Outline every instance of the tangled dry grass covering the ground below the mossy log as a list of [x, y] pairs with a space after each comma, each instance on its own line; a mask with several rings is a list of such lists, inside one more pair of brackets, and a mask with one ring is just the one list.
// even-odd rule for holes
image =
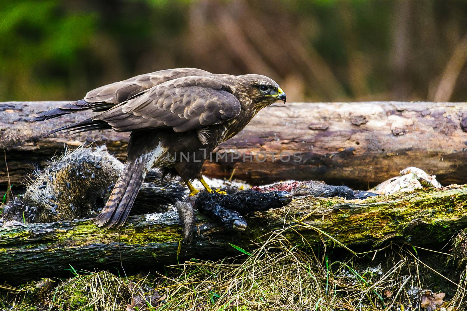
[[[135, 292], [129, 283], [159, 292], [149, 310], [415, 311], [421, 310], [425, 290], [446, 292], [445, 310], [465, 310], [467, 271], [455, 273], [450, 263], [446, 266], [453, 255], [408, 245], [366, 253], [313, 251], [306, 241], [293, 245], [285, 235], [283, 230], [270, 233], [251, 253], [239, 249], [237, 257], [191, 260], [146, 277], [78, 274], [36, 300], [42, 304], [37, 310], [125, 310]], [[454, 244], [462, 242], [458, 237]], [[34, 310], [26, 307], [32, 301], [28, 291], [33, 292], [25, 287], [10, 294], [10, 302], [14, 296], [20, 303], [12, 310]]]

